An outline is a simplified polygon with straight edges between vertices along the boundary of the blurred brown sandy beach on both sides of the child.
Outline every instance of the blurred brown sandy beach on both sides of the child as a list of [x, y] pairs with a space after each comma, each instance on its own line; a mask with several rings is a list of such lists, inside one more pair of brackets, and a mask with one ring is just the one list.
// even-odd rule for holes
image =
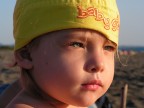
[[[0, 85], [12, 83], [20, 73], [14, 63], [13, 51], [0, 49]], [[127, 108], [144, 108], [144, 53], [124, 53], [116, 56], [114, 81], [106, 95], [113, 108], [120, 108], [121, 91], [128, 85]]]

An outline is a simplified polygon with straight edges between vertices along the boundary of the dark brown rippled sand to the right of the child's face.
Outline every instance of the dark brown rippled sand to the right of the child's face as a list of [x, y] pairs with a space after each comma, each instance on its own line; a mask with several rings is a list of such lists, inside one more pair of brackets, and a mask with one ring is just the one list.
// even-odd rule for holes
[[144, 53], [121, 56], [121, 59], [127, 66], [116, 62], [114, 81], [107, 95], [114, 108], [119, 108], [121, 88], [128, 84], [127, 108], [144, 108]]

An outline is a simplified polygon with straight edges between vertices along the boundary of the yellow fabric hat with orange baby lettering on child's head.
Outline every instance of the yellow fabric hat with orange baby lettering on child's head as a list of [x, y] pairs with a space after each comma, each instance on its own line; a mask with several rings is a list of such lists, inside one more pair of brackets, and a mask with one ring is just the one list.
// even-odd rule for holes
[[17, 0], [15, 50], [42, 34], [69, 28], [96, 30], [118, 44], [119, 19], [116, 0]]

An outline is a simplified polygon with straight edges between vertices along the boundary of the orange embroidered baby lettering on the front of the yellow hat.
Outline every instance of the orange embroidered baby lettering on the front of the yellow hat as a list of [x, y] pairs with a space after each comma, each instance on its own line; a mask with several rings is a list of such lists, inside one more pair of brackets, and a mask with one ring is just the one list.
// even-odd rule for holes
[[106, 18], [102, 12], [99, 11], [99, 9], [94, 7], [89, 7], [86, 10], [83, 10], [81, 6], [77, 7], [78, 9], [78, 18], [87, 18], [89, 16], [94, 16], [96, 21], [102, 21], [104, 24], [104, 28], [106, 30], [110, 29], [110, 26], [112, 25], [112, 30], [116, 31], [119, 30], [119, 18], [115, 18], [112, 21], [110, 21], [109, 18]]

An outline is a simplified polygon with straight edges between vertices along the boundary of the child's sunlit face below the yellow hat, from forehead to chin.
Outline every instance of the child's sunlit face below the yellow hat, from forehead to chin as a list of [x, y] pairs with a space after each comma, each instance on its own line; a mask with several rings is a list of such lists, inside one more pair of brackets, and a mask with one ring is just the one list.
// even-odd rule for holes
[[86, 29], [53, 32], [41, 37], [31, 52], [32, 75], [49, 96], [66, 104], [88, 106], [109, 88], [116, 45]]

